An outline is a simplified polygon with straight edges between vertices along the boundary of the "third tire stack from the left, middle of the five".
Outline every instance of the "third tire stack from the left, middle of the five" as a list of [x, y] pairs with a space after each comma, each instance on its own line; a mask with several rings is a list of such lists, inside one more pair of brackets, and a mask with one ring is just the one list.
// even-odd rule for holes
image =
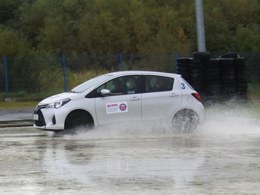
[[218, 101], [222, 94], [220, 59], [206, 60], [205, 67], [207, 99]]

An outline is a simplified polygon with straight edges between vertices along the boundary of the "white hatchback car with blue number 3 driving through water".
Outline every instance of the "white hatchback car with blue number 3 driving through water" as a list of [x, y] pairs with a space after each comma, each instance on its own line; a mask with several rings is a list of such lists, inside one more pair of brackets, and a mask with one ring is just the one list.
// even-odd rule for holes
[[60, 132], [103, 125], [171, 125], [193, 132], [204, 124], [199, 94], [179, 74], [122, 71], [92, 78], [42, 100], [34, 127]]

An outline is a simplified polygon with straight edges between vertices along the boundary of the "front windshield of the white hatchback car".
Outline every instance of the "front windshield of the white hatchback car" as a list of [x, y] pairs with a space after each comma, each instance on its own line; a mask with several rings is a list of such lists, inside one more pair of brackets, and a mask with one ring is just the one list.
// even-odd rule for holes
[[97, 85], [101, 81], [107, 80], [108, 78], [112, 77], [112, 75], [100, 75], [98, 77], [92, 78], [84, 83], [81, 83], [77, 87], [74, 87], [69, 92], [73, 93], [82, 93], [86, 91], [87, 89], [93, 87], [94, 85]]

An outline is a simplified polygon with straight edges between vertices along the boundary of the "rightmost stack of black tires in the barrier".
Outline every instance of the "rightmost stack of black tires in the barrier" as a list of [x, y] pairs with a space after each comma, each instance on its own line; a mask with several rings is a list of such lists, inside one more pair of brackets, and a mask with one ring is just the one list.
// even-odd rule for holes
[[247, 99], [247, 70], [245, 58], [234, 58], [236, 73], [236, 95], [240, 100]]

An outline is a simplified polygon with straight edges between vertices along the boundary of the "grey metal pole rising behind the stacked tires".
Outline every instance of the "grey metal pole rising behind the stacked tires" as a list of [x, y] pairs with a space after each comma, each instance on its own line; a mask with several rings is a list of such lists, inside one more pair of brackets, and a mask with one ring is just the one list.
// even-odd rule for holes
[[198, 52], [206, 52], [203, 3], [202, 0], [195, 0], [195, 2], [196, 2]]

